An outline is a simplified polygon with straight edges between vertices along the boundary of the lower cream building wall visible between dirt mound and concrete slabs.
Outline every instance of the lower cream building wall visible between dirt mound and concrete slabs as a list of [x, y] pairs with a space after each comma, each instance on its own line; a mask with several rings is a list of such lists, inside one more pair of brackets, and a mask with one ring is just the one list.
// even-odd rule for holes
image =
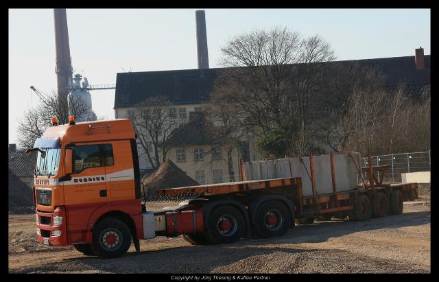
[[[204, 150], [204, 158], [202, 161], [195, 160], [195, 149]], [[185, 161], [177, 159], [177, 150], [185, 151]], [[209, 145], [194, 145], [186, 146], [180, 148], [172, 148], [169, 151], [168, 158], [173, 161], [182, 171], [186, 172], [188, 176], [197, 180], [200, 184], [211, 184], [211, 183], [225, 183], [230, 182], [230, 177], [228, 174], [228, 161], [227, 152], [224, 148], [220, 152], [220, 159], [213, 160], [212, 154], [210, 152], [211, 147]], [[239, 154], [237, 149], [233, 150], [233, 172], [235, 174], [235, 181], [241, 180], [240, 167], [239, 167]], [[214, 171], [221, 171], [222, 179], [214, 179]], [[200, 172], [204, 173], [204, 183], [197, 177]], [[218, 172], [217, 172], [218, 173]], [[217, 174], [218, 176], [218, 174]]]

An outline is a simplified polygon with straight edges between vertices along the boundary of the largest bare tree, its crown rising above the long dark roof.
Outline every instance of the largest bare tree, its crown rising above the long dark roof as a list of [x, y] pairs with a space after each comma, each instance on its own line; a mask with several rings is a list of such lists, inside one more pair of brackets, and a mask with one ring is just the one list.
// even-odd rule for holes
[[220, 63], [228, 69], [215, 81], [215, 99], [233, 104], [242, 129], [259, 139], [278, 128], [287, 128], [288, 138], [298, 136], [297, 130], [305, 136], [322, 62], [335, 58], [329, 43], [275, 27], [231, 38], [222, 55]]

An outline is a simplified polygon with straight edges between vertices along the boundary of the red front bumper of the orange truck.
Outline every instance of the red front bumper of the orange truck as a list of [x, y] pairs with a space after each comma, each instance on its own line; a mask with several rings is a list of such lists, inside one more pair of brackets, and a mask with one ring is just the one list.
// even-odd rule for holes
[[[38, 217], [36, 228], [40, 230], [40, 234], [37, 232], [38, 242], [41, 244], [47, 242], [49, 246], [67, 246], [66, 218], [62, 207], [57, 207], [53, 213], [37, 210], [36, 216]], [[54, 216], [62, 216], [62, 224], [54, 226]], [[61, 231], [61, 234], [54, 235], [52, 231]]]

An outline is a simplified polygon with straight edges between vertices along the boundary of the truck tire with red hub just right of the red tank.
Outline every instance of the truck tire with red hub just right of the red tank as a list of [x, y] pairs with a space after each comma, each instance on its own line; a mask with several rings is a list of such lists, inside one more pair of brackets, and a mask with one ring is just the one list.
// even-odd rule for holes
[[211, 244], [232, 243], [239, 240], [245, 231], [244, 215], [235, 207], [221, 206], [209, 216], [206, 238]]

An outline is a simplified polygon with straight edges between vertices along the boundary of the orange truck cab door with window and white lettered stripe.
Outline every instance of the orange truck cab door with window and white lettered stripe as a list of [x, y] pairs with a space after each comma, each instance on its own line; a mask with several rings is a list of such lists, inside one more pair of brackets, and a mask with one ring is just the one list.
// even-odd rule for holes
[[73, 174], [64, 186], [65, 204], [91, 204], [107, 201], [105, 163], [101, 144], [72, 146]]

